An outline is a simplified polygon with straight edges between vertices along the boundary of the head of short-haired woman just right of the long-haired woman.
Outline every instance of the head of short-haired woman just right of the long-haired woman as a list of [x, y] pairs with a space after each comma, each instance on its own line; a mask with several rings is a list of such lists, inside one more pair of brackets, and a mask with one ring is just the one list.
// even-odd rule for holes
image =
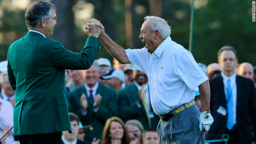
[[125, 126], [128, 130], [130, 138], [132, 140], [137, 140], [134, 144], [142, 144], [142, 134], [144, 132], [144, 128], [140, 121], [138, 120], [128, 120], [125, 123]]

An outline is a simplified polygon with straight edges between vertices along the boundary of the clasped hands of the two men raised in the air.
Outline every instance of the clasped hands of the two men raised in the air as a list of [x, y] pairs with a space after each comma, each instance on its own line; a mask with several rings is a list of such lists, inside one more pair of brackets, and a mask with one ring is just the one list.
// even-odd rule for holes
[[87, 25], [84, 25], [84, 32], [88, 34], [88, 36], [95, 36], [96, 38], [98, 38], [98, 36], [100, 35], [100, 28], [96, 26], [96, 23], [100, 23], [100, 21], [94, 18], [92, 18], [89, 21], [90, 24], [87, 23]]

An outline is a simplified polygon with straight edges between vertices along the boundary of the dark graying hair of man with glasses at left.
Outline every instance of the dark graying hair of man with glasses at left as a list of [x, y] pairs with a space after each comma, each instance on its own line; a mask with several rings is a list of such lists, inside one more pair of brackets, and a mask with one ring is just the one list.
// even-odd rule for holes
[[28, 7], [25, 18], [28, 30], [36, 30], [38, 23], [45, 18], [49, 22], [51, 16], [51, 9], [56, 11], [54, 4], [43, 0], [33, 2]]

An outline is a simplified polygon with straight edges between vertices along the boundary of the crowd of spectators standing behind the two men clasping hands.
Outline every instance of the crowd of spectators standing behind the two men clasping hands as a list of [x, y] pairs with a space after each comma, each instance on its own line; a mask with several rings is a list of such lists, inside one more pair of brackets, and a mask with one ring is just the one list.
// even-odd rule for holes
[[[130, 64], [118, 64], [116, 60], [113, 62], [112, 66], [110, 60], [99, 58], [88, 70], [66, 70], [66, 98], [72, 133], [62, 133], [63, 144], [158, 144], [159, 133], [156, 127], [160, 118], [154, 113], [150, 104], [146, 74], [132, 70]], [[255, 140], [256, 119], [253, 112], [256, 111], [256, 67], [248, 62], [238, 64], [236, 51], [229, 46], [222, 51], [220, 50], [218, 63], [212, 63], [208, 66], [202, 63], [198, 63], [198, 65], [210, 79], [211, 87], [210, 108], [214, 123], [209, 132], [206, 133], [206, 140], [218, 139], [218, 135], [221, 136], [226, 133], [225, 126], [229, 119], [224, 120], [221, 116], [230, 114], [229, 108], [227, 108], [228, 110], [224, 108], [226, 112], [220, 112], [219, 106], [223, 105], [220, 95], [223, 87], [226, 88], [227, 85], [224, 82], [223, 86], [222, 79], [218, 81], [218, 78], [225, 79], [233, 75], [235, 76], [234, 84], [236, 83], [234, 93], [237, 90], [237, 104], [235, 104], [237, 111], [232, 113], [235, 119], [235, 121], [232, 119], [235, 122], [232, 129], [238, 131], [239, 135], [230, 134], [230, 139], [236, 138], [234, 140], [238, 141], [244, 139], [240, 134], [240, 129], [243, 129], [240, 128], [243, 126], [240, 124], [240, 117], [244, 116], [242, 120], [247, 122], [247, 125], [243, 127], [249, 126], [250, 136]], [[7, 61], [0, 62], [1, 138], [13, 126], [12, 115], [15, 104], [15, 91], [10, 87], [6, 66]], [[237, 79], [240, 76], [243, 80], [241, 84]], [[253, 89], [250, 89], [252, 84]], [[245, 86], [247, 88], [244, 88]], [[242, 98], [240, 98], [240, 87], [243, 89]], [[234, 86], [232, 90], [234, 90]], [[226, 92], [225, 89], [223, 94], [226, 95]], [[200, 110], [198, 88], [194, 90], [194, 93], [196, 105]], [[238, 110], [240, 103], [243, 104], [241, 109], [248, 110], [248, 114], [240, 114], [241, 112]], [[235, 106], [233, 107], [236, 109]], [[223, 123], [221, 125], [224, 127], [222, 131], [219, 128], [219, 121]], [[218, 126], [216, 126], [217, 124]], [[4, 136], [1, 143], [14, 144], [15, 140], [17, 138], [13, 136], [12, 129]], [[175, 141], [173, 143], [175, 144]]]

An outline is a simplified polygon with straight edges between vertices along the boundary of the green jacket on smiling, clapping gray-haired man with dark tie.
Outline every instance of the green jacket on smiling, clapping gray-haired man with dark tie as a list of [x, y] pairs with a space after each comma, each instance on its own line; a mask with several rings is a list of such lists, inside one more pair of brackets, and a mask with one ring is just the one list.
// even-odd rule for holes
[[99, 109], [94, 112], [94, 107], [88, 102], [87, 114], [82, 114], [82, 107], [80, 104], [80, 98], [82, 94], [86, 95], [88, 102], [88, 95], [84, 85], [74, 89], [70, 93], [70, 104], [73, 112], [79, 117], [83, 125], [92, 125], [93, 130], [85, 130], [84, 140], [87, 142], [92, 142], [92, 139], [96, 137], [97, 139], [102, 139], [102, 132], [108, 118], [116, 116], [117, 103], [116, 103], [116, 91], [112, 88], [104, 86], [99, 83], [96, 94], [102, 96]]

